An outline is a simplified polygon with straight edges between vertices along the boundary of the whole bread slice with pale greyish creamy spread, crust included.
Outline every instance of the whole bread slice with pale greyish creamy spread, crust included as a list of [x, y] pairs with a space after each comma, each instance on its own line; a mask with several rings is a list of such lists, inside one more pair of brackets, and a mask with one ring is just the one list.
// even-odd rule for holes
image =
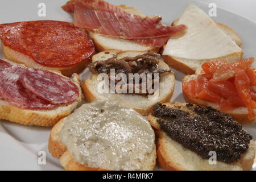
[[[97, 103], [102, 103], [105, 101], [96, 101]], [[94, 102], [94, 104], [96, 104]], [[60, 122], [58, 122], [51, 131], [51, 135], [49, 137], [49, 143], [48, 143], [48, 150], [51, 153], [51, 155], [54, 158], [58, 158], [60, 160], [60, 164], [66, 169], [66, 170], [76, 170], [76, 171], [102, 171], [102, 170], [110, 170], [113, 168], [115, 170], [130, 170], [130, 169], [138, 169], [138, 170], [153, 170], [156, 163], [156, 147], [155, 147], [155, 137], [154, 137], [154, 131], [152, 131], [151, 126], [142, 116], [139, 116], [138, 113], [136, 113], [132, 109], [124, 108], [121, 106], [121, 113], [126, 112], [128, 110], [129, 113], [127, 113], [126, 120], [124, 122], [120, 119], [116, 118], [116, 114], [119, 114], [120, 110], [118, 110], [119, 106], [115, 105], [114, 102], [110, 105], [110, 107], [101, 107], [96, 105], [92, 105], [93, 112], [90, 111], [90, 108], [88, 109], [88, 106], [90, 107], [91, 104], [82, 105], [78, 110], [74, 112], [74, 114], [79, 113], [80, 120], [77, 121], [75, 118], [70, 117], [61, 119]], [[113, 105], [115, 105], [113, 107]], [[84, 106], [84, 107], [83, 107]], [[109, 110], [107, 110], [109, 108]], [[86, 111], [82, 111], [82, 109], [86, 109]], [[108, 121], [102, 120], [104, 118], [104, 115], [100, 115], [102, 113], [102, 109], [104, 109], [104, 113], [107, 115], [110, 115], [108, 117]], [[82, 112], [82, 113], [81, 113]], [[98, 113], [98, 117], [93, 117], [92, 115]], [[109, 112], [109, 113], [108, 113]], [[117, 113], [116, 113], [117, 112]], [[112, 113], [112, 114], [111, 114]], [[83, 116], [82, 116], [82, 115]], [[113, 118], [111, 118], [113, 117]], [[122, 118], [122, 117], [119, 117]], [[82, 121], [81, 119], [86, 119], [86, 121]], [[92, 120], [91, 120], [92, 119]], [[106, 119], [106, 118], [105, 118]], [[130, 121], [129, 119], [133, 119]], [[101, 122], [106, 121], [105, 123]], [[71, 125], [69, 125], [69, 122], [76, 122], [75, 128], [73, 128]], [[83, 123], [80, 125], [80, 123]], [[131, 127], [131, 123], [135, 122], [135, 126]], [[72, 142], [76, 142], [76, 132], [77, 130], [85, 131], [82, 127], [84, 125], [90, 126], [90, 129], [87, 129], [86, 133], [79, 135], [79, 139], [77, 140], [77, 143], [72, 144]], [[90, 124], [91, 123], [91, 124]], [[98, 123], [98, 125], [94, 126], [93, 123]], [[127, 123], [127, 124], [126, 124]], [[86, 125], [86, 126], [87, 126]], [[127, 125], [127, 126], [126, 126]], [[133, 124], [134, 125], [134, 124]], [[86, 127], [85, 126], [85, 127]], [[125, 126], [125, 128], [123, 127]], [[72, 127], [72, 129], [71, 129]], [[106, 128], [107, 127], [107, 128]], [[134, 129], [134, 127], [136, 129]], [[109, 128], [114, 133], [115, 137], [113, 138], [112, 134], [105, 134], [104, 132], [109, 132]], [[134, 129], [135, 133], [133, 131], [129, 131], [130, 129]], [[66, 131], [68, 130], [68, 131]], [[69, 130], [75, 130], [75, 133], [69, 134]], [[92, 130], [92, 133], [96, 132], [97, 135], [90, 134], [90, 131]], [[70, 132], [72, 132], [70, 131]], [[136, 134], [136, 132], [139, 131], [139, 134]], [[150, 136], [147, 137], [144, 135], [144, 131], [146, 131], [146, 135]], [[129, 133], [129, 136], [126, 136], [126, 134]], [[134, 137], [136, 136], [136, 137]], [[143, 137], [142, 137], [143, 136]], [[71, 139], [73, 137], [73, 139]], [[119, 141], [119, 137], [121, 137], [121, 140], [124, 142], [123, 146], [119, 146], [119, 143], [115, 143]], [[147, 137], [147, 144], [150, 144], [148, 146], [146, 143], [145, 146], [138, 146], [137, 149], [133, 149], [134, 146], [136, 146], [136, 143], [139, 142], [139, 137], [141, 137], [142, 140], [144, 140], [144, 137]], [[117, 139], [115, 139], [117, 138]], [[64, 139], [64, 142], [63, 142]], [[61, 142], [62, 141], [62, 142]], [[102, 143], [103, 142], [103, 143]], [[67, 144], [67, 146], [65, 145]], [[105, 145], [109, 147], [106, 149]], [[79, 152], [79, 148], [81, 146], [87, 146], [82, 149], [82, 152]], [[88, 147], [90, 146], [90, 147]], [[102, 146], [104, 148], [102, 148]], [[118, 149], [116, 148], [117, 146]], [[71, 148], [72, 147], [72, 148]], [[120, 148], [121, 147], [121, 148]], [[123, 147], [123, 148], [122, 148]], [[127, 148], [128, 147], [128, 148]], [[68, 149], [69, 148], [69, 149]], [[89, 155], [91, 152], [96, 152], [94, 150], [100, 151], [100, 154], [93, 156]], [[141, 149], [139, 149], [141, 148]], [[142, 149], [144, 148], [144, 149]], [[146, 149], [147, 152], [144, 150]], [[101, 154], [101, 150], [102, 154]], [[143, 156], [140, 154], [137, 154], [136, 152], [142, 151]], [[114, 152], [112, 154], [112, 152]], [[103, 154], [104, 153], [104, 154]], [[129, 158], [125, 158], [123, 155], [130, 156]], [[134, 156], [135, 155], [135, 156]], [[98, 161], [102, 159], [101, 161]], [[121, 160], [121, 162], [120, 162]], [[136, 160], [136, 161], [135, 161]]]

